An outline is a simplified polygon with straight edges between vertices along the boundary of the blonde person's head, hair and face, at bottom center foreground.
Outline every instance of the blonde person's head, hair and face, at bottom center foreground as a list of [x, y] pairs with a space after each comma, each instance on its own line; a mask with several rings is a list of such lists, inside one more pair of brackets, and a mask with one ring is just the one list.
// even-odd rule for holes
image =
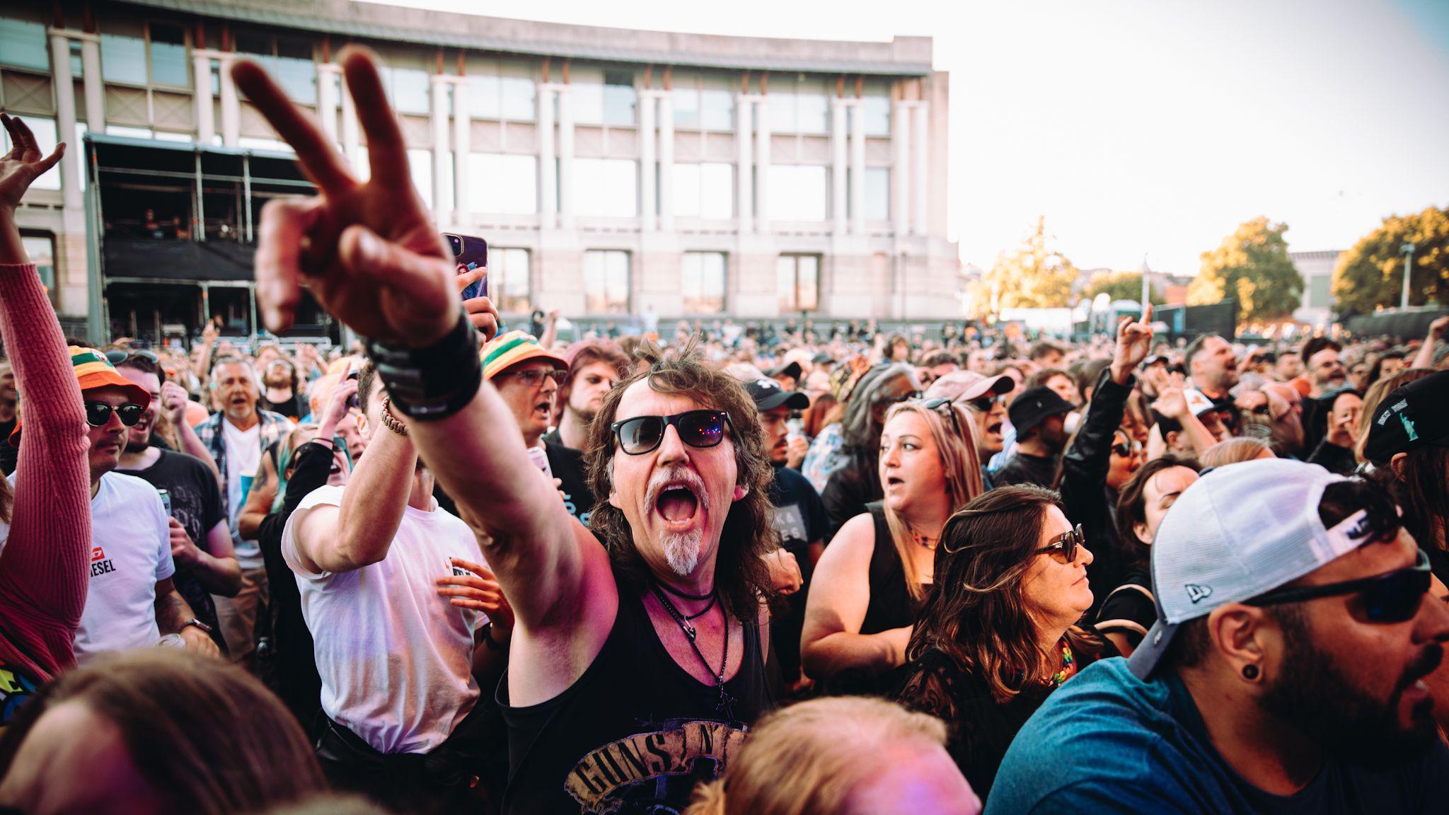
[[767, 716], [684, 815], [974, 815], [940, 719], [884, 699], [813, 699]]

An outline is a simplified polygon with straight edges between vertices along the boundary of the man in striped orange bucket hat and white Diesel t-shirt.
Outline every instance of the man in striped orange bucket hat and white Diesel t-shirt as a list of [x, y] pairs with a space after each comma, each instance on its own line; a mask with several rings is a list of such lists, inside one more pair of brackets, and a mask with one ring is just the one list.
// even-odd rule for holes
[[[151, 394], [116, 373], [100, 351], [71, 345], [71, 364], [85, 403], [91, 481], [90, 584], [75, 631], [75, 660], [85, 664], [107, 651], [151, 648], [165, 635], [219, 655], [212, 626], [172, 587], [171, 529], [161, 496], [149, 483], [114, 471], [126, 431], [151, 406]], [[23, 419], [10, 437], [22, 457]]]

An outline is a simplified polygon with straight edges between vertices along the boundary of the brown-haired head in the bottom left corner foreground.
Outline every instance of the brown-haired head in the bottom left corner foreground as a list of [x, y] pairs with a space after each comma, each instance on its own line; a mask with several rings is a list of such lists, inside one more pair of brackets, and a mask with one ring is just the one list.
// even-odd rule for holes
[[0, 738], [0, 806], [30, 815], [256, 812], [325, 789], [261, 682], [171, 648], [62, 676]]

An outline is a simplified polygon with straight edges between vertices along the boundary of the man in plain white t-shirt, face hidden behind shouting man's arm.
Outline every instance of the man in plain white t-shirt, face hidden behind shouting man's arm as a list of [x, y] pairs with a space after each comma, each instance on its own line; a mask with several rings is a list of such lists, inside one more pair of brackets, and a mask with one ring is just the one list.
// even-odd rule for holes
[[346, 487], [309, 495], [281, 539], [329, 719], [317, 758], [335, 787], [384, 806], [475, 806], [469, 713], [501, 674], [511, 611], [472, 531], [433, 499], [371, 363], [358, 386], [368, 454]]

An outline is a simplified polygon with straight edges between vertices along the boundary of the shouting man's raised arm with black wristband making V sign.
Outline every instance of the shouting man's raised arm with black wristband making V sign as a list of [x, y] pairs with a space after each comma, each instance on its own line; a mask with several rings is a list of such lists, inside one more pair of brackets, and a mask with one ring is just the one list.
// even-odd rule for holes
[[[280, 331], [291, 323], [306, 280], [329, 313], [371, 339], [394, 413], [413, 415], [409, 439], [377, 431], [362, 470], [374, 455], [406, 458], [410, 452], [398, 448], [416, 444], [459, 510], [493, 541], [485, 555], [517, 600], [520, 626], [546, 625], [561, 603], [580, 602], [585, 563], [594, 584], [604, 583], [597, 577], [600, 571], [607, 577], [607, 558], [601, 547], [582, 542], [587, 532], [575, 531], [546, 481], [520, 477], [532, 471], [523, 437], [493, 387], [480, 386], [471, 331], [454, 334], [464, 319], [454, 265], [412, 187], [407, 151], [377, 65], [359, 48], [345, 51], [342, 64], [367, 132], [367, 183], [351, 174], [310, 115], [261, 67], [239, 61], [232, 70], [322, 191], [310, 202], [271, 202], [262, 212], [256, 281], [267, 326]], [[474, 313], [471, 322], [484, 334], [497, 331], [493, 313]], [[414, 402], [433, 400], [440, 409], [423, 415], [420, 405], [409, 408], [403, 392], [410, 386]]]

